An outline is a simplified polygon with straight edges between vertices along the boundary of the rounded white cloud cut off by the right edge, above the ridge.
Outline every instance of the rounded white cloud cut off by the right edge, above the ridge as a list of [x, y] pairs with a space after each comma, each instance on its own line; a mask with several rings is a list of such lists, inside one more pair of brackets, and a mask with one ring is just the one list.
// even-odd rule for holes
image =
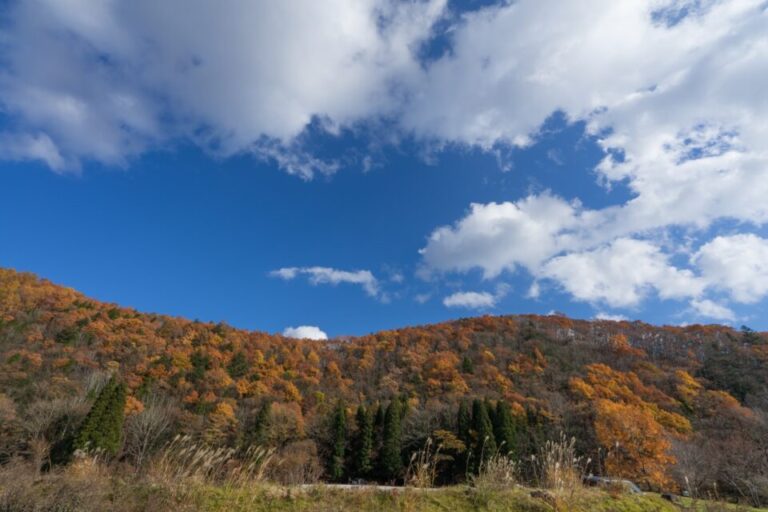
[[754, 303], [768, 294], [768, 240], [752, 234], [718, 236], [693, 261], [714, 289], [737, 302]]

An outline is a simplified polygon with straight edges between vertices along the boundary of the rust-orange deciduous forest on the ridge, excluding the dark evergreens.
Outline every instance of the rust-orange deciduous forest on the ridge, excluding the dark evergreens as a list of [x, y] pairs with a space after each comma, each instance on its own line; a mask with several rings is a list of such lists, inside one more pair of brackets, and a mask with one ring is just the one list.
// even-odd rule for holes
[[[519, 456], [567, 434], [598, 472], [647, 487], [680, 488], [695, 473], [700, 486], [768, 493], [768, 343], [748, 329], [506, 315], [296, 340], [139, 313], [0, 269], [0, 398], [18, 420], [0, 459], [29, 443], [35, 403], [85, 407], [104, 375], [125, 384], [127, 422], [162, 397], [169, 433], [217, 445], [249, 442], [271, 404], [268, 443], [281, 454], [305, 443], [318, 466], [339, 403], [402, 401], [407, 460], [455, 431], [462, 401], [481, 399], [510, 405]], [[61, 433], [47, 428], [53, 442]]]

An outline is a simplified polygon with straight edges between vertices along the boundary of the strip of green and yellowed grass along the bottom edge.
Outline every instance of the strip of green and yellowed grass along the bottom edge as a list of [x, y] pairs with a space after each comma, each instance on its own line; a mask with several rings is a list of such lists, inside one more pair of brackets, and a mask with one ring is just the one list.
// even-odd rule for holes
[[[26, 482], [26, 483], [25, 483]], [[0, 481], [2, 512], [206, 511], [511, 511], [511, 512], [737, 512], [758, 509], [682, 499], [671, 503], [657, 494], [610, 494], [596, 489], [552, 493], [524, 487], [476, 489], [339, 489], [333, 486], [245, 487], [185, 482], [182, 485], [143, 478], [117, 478], [84, 472], [46, 475], [30, 483]]]

